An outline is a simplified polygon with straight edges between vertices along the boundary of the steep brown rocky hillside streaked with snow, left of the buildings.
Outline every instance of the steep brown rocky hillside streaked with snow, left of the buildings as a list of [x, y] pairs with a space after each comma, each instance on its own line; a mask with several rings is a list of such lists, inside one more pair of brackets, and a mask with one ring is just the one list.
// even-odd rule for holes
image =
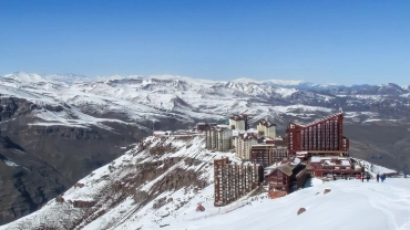
[[[233, 154], [204, 149], [204, 137], [148, 137], [81, 179], [41, 210], [0, 229], [130, 229], [198, 217], [197, 202], [215, 211], [213, 159]], [[154, 203], [162, 203], [156, 207]]]

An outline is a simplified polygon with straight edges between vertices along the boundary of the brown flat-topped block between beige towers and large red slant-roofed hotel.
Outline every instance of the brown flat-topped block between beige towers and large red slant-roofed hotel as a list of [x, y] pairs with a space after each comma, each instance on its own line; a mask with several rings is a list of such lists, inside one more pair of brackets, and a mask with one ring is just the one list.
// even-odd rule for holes
[[285, 145], [257, 144], [250, 147], [250, 161], [264, 167], [281, 161], [285, 158], [288, 158], [288, 149]]

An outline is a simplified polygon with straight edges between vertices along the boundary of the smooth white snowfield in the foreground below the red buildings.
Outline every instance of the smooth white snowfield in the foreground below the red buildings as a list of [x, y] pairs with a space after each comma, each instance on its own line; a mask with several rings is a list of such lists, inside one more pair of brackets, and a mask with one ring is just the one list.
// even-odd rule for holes
[[[325, 189], [330, 192], [324, 195]], [[225, 215], [170, 222], [166, 229], [409, 229], [409, 198], [407, 179], [337, 180], [254, 201]], [[298, 216], [299, 208], [306, 212]]]

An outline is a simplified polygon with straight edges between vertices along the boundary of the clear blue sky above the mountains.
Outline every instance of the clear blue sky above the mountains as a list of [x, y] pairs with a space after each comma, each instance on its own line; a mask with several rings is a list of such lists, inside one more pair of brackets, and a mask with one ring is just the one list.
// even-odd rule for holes
[[1, 0], [0, 75], [410, 85], [410, 1]]

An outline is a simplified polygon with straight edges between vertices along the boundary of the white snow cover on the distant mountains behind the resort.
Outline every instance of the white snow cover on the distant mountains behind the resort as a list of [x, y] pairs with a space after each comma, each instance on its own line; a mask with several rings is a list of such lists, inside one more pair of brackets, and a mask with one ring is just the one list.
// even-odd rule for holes
[[[75, 74], [41, 75], [18, 72], [0, 77], [0, 94], [24, 98], [40, 105], [41, 108], [47, 105], [70, 105], [76, 107], [80, 113], [93, 114], [94, 117], [101, 117], [111, 112], [121, 113], [139, 126], [146, 125], [147, 121], [157, 122], [165, 117], [184, 122], [223, 119], [227, 113], [237, 114], [245, 109], [248, 109], [249, 122], [256, 122], [266, 116], [273, 116], [273, 114], [275, 114], [273, 116], [275, 119], [280, 119], [283, 115], [309, 119], [316, 115], [316, 112], [334, 113], [331, 108], [290, 104], [293, 102], [288, 102], [288, 105], [271, 104], [275, 100], [270, 98], [290, 97], [300, 92], [301, 87], [309, 85], [311, 87], [334, 87], [331, 84], [314, 85], [291, 80], [239, 79], [223, 82], [178, 75], [115, 75], [91, 80]], [[335, 100], [334, 96], [312, 94], [318, 101], [332, 103]], [[348, 103], [371, 103], [381, 98], [378, 95], [358, 95]], [[70, 126], [72, 119], [78, 118], [70, 117], [71, 109], [63, 107], [64, 112], [57, 113], [51, 119], [40, 121], [44, 117], [34, 114], [39, 121], [32, 125], [51, 123], [51, 125]], [[371, 119], [379, 118], [378, 113], [348, 113], [346, 117], [355, 118], [367, 115]], [[55, 121], [55, 116], [60, 118]], [[83, 127], [102, 122], [94, 119], [86, 125], [75, 125]], [[120, 122], [120, 119], [111, 122]], [[104, 126], [104, 128], [107, 127]]]

